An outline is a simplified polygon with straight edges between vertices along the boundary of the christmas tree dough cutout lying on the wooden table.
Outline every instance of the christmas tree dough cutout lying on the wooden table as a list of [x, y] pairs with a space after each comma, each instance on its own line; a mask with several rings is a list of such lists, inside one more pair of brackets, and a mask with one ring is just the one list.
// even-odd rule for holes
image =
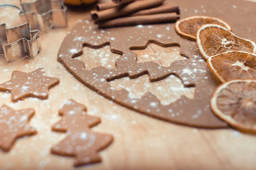
[[51, 153], [74, 156], [74, 166], [100, 162], [98, 152], [113, 142], [113, 136], [90, 130], [100, 123], [100, 118], [87, 115], [86, 110], [84, 105], [70, 99], [59, 111], [61, 120], [52, 127], [67, 136], [52, 147]]

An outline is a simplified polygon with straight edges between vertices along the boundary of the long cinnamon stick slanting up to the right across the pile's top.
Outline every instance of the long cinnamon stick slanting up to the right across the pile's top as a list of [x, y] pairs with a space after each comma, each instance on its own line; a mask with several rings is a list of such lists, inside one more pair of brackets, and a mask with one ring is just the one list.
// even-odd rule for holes
[[117, 6], [115, 8], [109, 8], [103, 11], [97, 11], [93, 14], [93, 18], [96, 21], [108, 20], [111, 18], [119, 17], [126, 14], [131, 14], [143, 9], [159, 6], [164, 0], [139, 0], [127, 5]]

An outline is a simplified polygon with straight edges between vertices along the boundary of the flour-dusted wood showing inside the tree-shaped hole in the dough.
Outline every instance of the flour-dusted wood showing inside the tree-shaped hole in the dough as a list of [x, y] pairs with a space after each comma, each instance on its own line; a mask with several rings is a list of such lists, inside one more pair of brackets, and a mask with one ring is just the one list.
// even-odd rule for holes
[[[143, 75], [136, 79], [124, 77], [109, 83], [116, 90], [127, 90], [129, 92], [129, 97], [134, 98], [134, 101], [131, 101], [134, 103], [137, 98], [142, 97], [146, 92], [151, 92], [161, 101], [161, 105], [169, 105], [177, 99], [180, 99], [181, 96], [193, 99], [195, 91], [195, 88], [184, 87], [181, 80], [174, 75], [157, 82], [149, 82], [148, 75]], [[150, 105], [152, 107], [157, 107], [157, 103], [155, 102], [151, 102]]]

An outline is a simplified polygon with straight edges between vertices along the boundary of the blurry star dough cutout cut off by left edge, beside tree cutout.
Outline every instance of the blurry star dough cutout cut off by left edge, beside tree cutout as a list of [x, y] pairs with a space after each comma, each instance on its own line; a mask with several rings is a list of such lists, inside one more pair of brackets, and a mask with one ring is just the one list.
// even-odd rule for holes
[[28, 124], [34, 114], [33, 109], [15, 111], [7, 105], [2, 106], [0, 109], [0, 148], [2, 150], [11, 150], [19, 137], [37, 133], [35, 128]]

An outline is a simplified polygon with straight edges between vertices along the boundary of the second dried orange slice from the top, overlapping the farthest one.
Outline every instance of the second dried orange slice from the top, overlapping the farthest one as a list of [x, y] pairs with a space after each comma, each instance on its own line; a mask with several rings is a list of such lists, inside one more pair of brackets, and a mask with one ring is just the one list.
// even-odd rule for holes
[[198, 28], [196, 42], [200, 53], [206, 59], [227, 51], [256, 53], [255, 42], [237, 37], [227, 28], [215, 24], [206, 24]]

